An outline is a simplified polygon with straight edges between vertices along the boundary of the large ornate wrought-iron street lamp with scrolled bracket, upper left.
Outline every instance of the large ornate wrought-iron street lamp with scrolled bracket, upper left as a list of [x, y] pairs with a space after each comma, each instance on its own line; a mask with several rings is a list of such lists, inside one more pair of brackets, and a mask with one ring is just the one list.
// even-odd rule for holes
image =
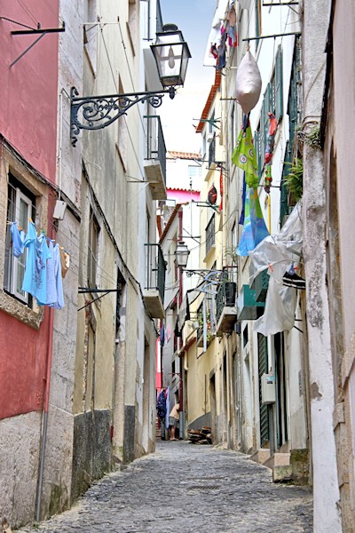
[[151, 45], [164, 87], [162, 91], [80, 97], [75, 87], [72, 87], [70, 136], [74, 147], [80, 130], [102, 130], [125, 115], [127, 109], [138, 102], [148, 102], [152, 107], [160, 107], [164, 94], [168, 93], [173, 99], [176, 93], [175, 87], [184, 85], [187, 63], [191, 58], [189, 48], [175, 24], [165, 24], [162, 30], [156, 34], [155, 44]]

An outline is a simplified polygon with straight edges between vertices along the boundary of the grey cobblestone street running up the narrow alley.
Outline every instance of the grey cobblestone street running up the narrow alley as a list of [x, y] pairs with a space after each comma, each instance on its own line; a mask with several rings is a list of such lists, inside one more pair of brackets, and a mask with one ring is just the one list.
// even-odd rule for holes
[[188, 442], [99, 481], [68, 512], [22, 532], [312, 532], [312, 491], [272, 483], [248, 456]]

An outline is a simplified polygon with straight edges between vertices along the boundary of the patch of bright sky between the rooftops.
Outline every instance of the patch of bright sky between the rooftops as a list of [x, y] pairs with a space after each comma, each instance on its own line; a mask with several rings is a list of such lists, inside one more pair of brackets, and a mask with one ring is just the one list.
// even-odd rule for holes
[[173, 100], [164, 97], [159, 109], [168, 151], [200, 152], [201, 134], [193, 128], [198, 124], [193, 119], [201, 117], [215, 81], [215, 68], [203, 66], [215, 6], [216, 0], [161, 0], [163, 23], [177, 25], [192, 55], [184, 88]]

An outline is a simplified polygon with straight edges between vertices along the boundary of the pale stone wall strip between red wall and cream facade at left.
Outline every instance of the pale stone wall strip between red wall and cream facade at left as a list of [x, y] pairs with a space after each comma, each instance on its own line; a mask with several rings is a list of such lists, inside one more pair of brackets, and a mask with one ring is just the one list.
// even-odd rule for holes
[[[59, 34], [58, 159], [56, 181], [80, 217], [82, 143], [70, 144], [70, 99], [72, 86], [82, 91], [83, 0], [60, 2], [59, 19], [66, 31]], [[67, 208], [59, 220], [56, 240], [70, 254], [70, 267], [63, 280], [65, 306], [54, 310], [51, 361], [51, 391], [43, 467], [41, 519], [60, 513], [71, 503], [73, 456], [73, 394], [77, 328], [80, 219]]]

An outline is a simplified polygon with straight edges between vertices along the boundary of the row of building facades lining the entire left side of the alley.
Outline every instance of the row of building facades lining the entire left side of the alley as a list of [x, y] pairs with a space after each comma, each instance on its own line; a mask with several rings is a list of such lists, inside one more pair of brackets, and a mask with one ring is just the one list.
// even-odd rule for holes
[[[166, 150], [149, 103], [95, 131], [71, 114], [75, 97], [162, 89], [159, 3], [3, 7], [0, 513], [18, 527], [154, 450]], [[66, 254], [62, 308], [21, 290], [28, 252], [13, 255], [11, 228], [26, 234], [31, 220]]]

